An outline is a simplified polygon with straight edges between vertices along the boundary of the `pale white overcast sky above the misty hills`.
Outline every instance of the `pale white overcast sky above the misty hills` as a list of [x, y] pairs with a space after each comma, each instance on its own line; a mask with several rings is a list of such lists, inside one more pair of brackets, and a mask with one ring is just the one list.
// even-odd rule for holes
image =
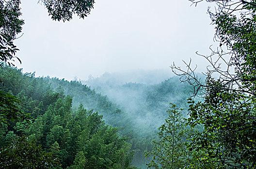
[[182, 59], [205, 70], [214, 26], [209, 4], [188, 0], [96, 0], [87, 18], [52, 21], [38, 0], [21, 0], [25, 20], [16, 62], [24, 72], [86, 80], [104, 72], [171, 69]]

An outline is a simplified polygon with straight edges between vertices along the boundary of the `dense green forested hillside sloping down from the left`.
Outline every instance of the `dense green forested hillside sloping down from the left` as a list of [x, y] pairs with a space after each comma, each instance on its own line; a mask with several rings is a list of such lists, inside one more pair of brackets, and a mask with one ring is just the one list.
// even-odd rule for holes
[[[54, 159], [49, 164], [52, 167], [130, 168], [133, 152], [127, 138], [120, 137], [117, 128], [105, 126], [102, 115], [97, 112], [87, 111], [82, 104], [72, 107], [72, 97], [64, 93], [63, 87], [66, 87], [66, 93], [70, 95], [83, 93], [82, 96], [86, 96], [83, 100], [88, 103], [86, 106], [94, 105], [99, 110], [105, 110], [104, 113], [111, 113], [111, 108], [105, 107], [111, 104], [106, 97], [101, 97], [78, 82], [35, 78], [33, 73], [23, 74], [21, 70], [3, 64], [0, 68], [0, 79], [4, 82], [1, 90], [17, 96], [17, 99], [21, 100], [19, 109], [31, 116], [21, 122], [2, 119], [6, 123], [1, 123], [0, 128], [0, 168], [22, 168], [22, 165], [25, 165], [20, 162], [24, 158], [23, 154], [38, 155], [32, 152], [38, 145], [50, 153], [45, 155], [45, 158]], [[54, 82], [58, 82], [59, 87], [54, 88]], [[70, 85], [70, 88], [65, 85]], [[74, 98], [76, 99], [76, 96]], [[22, 140], [21, 136], [26, 138]], [[29, 150], [24, 150], [24, 139], [26, 144], [31, 145], [31, 149], [28, 147]], [[39, 153], [42, 150], [38, 150]], [[10, 155], [15, 155], [17, 161], [12, 161], [12, 158], [11, 161], [6, 160]], [[28, 158], [24, 163], [33, 166], [33, 160], [40, 160], [34, 158]], [[43, 165], [42, 168], [47, 166]]]

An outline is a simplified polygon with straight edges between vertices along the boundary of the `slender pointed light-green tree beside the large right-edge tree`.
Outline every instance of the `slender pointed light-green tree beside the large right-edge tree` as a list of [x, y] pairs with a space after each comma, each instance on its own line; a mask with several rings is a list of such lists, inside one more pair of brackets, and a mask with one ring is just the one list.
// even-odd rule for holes
[[170, 103], [169, 113], [165, 123], [159, 127], [159, 140], [153, 141], [153, 150], [146, 153], [145, 157], [152, 156], [148, 168], [154, 169], [179, 169], [189, 165], [187, 150], [189, 130], [186, 129], [186, 119], [182, 109]]

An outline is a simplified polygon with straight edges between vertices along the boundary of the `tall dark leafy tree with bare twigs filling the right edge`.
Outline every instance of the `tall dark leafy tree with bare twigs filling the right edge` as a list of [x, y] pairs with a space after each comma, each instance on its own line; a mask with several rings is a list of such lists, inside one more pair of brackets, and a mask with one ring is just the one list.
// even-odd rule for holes
[[[198, 3], [203, 0], [190, 0]], [[194, 168], [256, 167], [256, 0], [206, 0], [219, 42], [211, 55], [205, 81], [197, 78], [191, 62], [187, 70], [172, 65], [181, 81], [194, 86], [204, 101], [190, 104], [188, 124], [202, 125], [190, 150]], [[200, 55], [202, 56], [202, 55]], [[216, 78], [217, 77], [217, 78]]]

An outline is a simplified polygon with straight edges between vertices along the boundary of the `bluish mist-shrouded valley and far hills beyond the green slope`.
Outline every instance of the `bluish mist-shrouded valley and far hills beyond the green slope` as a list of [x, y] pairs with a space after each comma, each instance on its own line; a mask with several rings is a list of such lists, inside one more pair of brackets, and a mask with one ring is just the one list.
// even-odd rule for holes
[[105, 115], [104, 119], [110, 125], [115, 121], [121, 127], [120, 133], [130, 137], [135, 149], [133, 164], [143, 169], [149, 160], [144, 158], [144, 151], [149, 151], [151, 141], [157, 139], [158, 128], [168, 116], [169, 103], [187, 108], [192, 90], [189, 84], [180, 83], [171, 70], [106, 72], [81, 83], [107, 96], [122, 111], [118, 118]]

